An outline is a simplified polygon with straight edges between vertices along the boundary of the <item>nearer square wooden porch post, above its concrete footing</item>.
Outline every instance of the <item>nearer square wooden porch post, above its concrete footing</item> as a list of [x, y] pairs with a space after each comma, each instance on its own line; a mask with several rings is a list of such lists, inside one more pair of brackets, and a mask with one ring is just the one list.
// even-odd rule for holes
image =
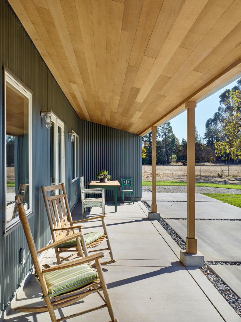
[[186, 252], [197, 254], [195, 236], [195, 107], [196, 101], [187, 101], [187, 237]]

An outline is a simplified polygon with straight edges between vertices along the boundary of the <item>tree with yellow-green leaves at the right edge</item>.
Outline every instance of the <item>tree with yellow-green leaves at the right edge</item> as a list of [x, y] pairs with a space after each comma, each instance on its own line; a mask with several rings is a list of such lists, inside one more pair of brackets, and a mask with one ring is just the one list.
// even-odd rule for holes
[[216, 155], [228, 154], [234, 160], [241, 159], [241, 90], [229, 90], [222, 104], [223, 125], [219, 140], [214, 142]]

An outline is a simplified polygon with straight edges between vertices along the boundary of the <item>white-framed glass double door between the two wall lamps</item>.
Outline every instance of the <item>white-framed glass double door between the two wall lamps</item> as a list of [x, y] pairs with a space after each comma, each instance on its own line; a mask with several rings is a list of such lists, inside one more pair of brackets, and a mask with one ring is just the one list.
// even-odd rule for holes
[[59, 185], [65, 179], [64, 123], [53, 114], [50, 128], [51, 185]]

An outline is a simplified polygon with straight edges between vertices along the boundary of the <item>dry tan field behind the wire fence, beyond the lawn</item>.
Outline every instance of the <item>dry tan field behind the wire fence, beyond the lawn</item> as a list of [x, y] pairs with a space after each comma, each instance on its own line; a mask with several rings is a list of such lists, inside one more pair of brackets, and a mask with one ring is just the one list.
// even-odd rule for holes
[[[224, 171], [223, 177], [218, 177], [220, 170]], [[241, 165], [226, 164], [199, 164], [195, 166], [195, 175], [197, 182], [219, 182], [219, 183], [241, 183]], [[150, 181], [152, 178], [152, 167], [142, 166], [142, 180]], [[156, 166], [156, 180], [160, 181], [186, 181], [187, 166], [173, 165], [173, 166]]]

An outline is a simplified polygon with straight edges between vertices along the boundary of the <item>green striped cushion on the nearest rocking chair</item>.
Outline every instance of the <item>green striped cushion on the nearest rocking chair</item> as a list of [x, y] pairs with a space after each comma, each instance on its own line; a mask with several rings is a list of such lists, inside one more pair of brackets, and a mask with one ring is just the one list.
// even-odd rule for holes
[[82, 264], [63, 270], [43, 273], [49, 296], [54, 297], [79, 289], [98, 279], [98, 274], [87, 264]]

